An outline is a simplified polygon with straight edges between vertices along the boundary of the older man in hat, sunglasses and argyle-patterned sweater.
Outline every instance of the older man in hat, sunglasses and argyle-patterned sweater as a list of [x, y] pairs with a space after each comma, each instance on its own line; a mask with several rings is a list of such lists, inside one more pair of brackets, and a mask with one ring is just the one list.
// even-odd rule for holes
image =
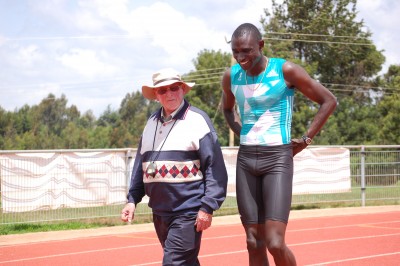
[[149, 196], [163, 265], [200, 265], [202, 231], [226, 197], [228, 177], [215, 129], [206, 113], [184, 99], [193, 86], [163, 69], [153, 75], [152, 86], [142, 87], [143, 96], [161, 108], [144, 128], [121, 219], [131, 221], [136, 205]]

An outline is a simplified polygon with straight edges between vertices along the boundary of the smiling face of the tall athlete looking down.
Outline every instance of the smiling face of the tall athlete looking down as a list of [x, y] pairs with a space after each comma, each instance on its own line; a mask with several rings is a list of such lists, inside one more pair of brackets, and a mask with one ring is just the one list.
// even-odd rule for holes
[[263, 47], [264, 41], [258, 41], [251, 33], [240, 37], [232, 37], [231, 48], [233, 57], [245, 71], [257, 65], [262, 58]]

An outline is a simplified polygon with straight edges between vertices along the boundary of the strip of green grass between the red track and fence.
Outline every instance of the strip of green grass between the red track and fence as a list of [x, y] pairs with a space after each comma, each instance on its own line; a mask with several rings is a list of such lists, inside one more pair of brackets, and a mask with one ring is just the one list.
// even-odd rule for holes
[[[400, 205], [400, 184], [386, 187], [369, 187], [366, 190], [366, 205]], [[293, 195], [292, 209], [318, 209], [361, 206], [361, 191], [353, 187], [351, 192], [332, 194]], [[0, 213], [0, 235], [75, 230], [124, 225], [120, 218], [123, 205], [91, 208], [60, 208], [23, 213]], [[235, 197], [227, 197], [214, 216], [237, 214]], [[86, 218], [82, 218], [86, 217]], [[139, 204], [133, 223], [152, 222], [151, 209]]]

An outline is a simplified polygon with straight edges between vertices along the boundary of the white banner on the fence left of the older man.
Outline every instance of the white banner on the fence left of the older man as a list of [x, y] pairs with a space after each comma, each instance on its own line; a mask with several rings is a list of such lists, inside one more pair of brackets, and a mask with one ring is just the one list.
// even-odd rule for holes
[[125, 151], [16, 152], [0, 155], [3, 212], [121, 203]]

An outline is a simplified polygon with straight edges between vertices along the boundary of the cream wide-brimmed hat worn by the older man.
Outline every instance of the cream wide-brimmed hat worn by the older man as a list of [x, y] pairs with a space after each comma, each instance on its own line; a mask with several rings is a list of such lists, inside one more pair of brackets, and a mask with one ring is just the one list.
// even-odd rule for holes
[[157, 99], [155, 94], [155, 88], [168, 86], [174, 83], [181, 83], [183, 86], [184, 94], [188, 93], [190, 89], [195, 85], [194, 82], [184, 82], [181, 76], [172, 68], [161, 69], [153, 74], [153, 85], [142, 86], [143, 96], [149, 100]]

